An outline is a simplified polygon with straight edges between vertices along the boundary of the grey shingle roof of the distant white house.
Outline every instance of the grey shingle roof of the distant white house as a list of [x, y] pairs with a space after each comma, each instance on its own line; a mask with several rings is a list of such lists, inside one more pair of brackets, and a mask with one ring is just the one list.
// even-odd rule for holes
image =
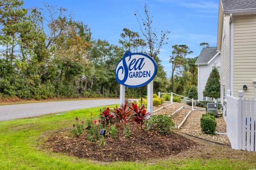
[[204, 47], [200, 55], [198, 56], [198, 59], [196, 60], [196, 64], [206, 64], [217, 53], [217, 47]]

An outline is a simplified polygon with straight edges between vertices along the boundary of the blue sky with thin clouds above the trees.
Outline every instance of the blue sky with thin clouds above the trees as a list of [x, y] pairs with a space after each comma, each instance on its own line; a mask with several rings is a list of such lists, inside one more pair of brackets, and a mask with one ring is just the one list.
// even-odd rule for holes
[[186, 44], [194, 53], [189, 58], [198, 56], [199, 46], [207, 42], [217, 44], [218, 0], [24, 0], [25, 7], [43, 7], [43, 3], [64, 7], [75, 20], [83, 21], [92, 31], [94, 39], [106, 39], [119, 45], [118, 39], [123, 28], [140, 33], [134, 12], [143, 16], [145, 4], [153, 15], [153, 27], [157, 33], [171, 31], [167, 44], [162, 47], [159, 58], [167, 77], [171, 76], [172, 64], [169, 63], [172, 45]]

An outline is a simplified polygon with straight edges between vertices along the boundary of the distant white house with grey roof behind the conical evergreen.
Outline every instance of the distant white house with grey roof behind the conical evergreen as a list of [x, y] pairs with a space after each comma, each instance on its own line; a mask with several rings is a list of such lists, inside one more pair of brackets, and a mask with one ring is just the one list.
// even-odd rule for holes
[[217, 67], [220, 71], [220, 52], [217, 52], [217, 47], [204, 47], [195, 64], [198, 66], [198, 100], [210, 100], [203, 95], [203, 91], [212, 69]]

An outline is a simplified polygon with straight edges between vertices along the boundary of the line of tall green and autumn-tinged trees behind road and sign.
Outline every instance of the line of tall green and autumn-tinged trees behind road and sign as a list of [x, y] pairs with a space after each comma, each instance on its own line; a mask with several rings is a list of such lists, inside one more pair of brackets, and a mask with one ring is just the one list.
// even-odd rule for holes
[[[120, 45], [113, 45], [94, 39], [89, 26], [74, 20], [62, 7], [44, 4], [43, 9], [26, 9], [23, 1], [1, 1], [0, 98], [117, 97], [119, 85], [114, 70], [126, 50], [152, 56], [158, 66], [154, 92], [170, 91], [170, 80], [158, 57], [170, 31], [156, 32], [147, 5], [142, 17], [134, 15], [140, 33], [124, 28]], [[197, 82], [195, 59], [186, 59], [185, 54], [173, 52], [179, 60], [175, 66], [179, 74], [174, 77], [175, 82], [180, 82], [175, 85], [178, 93], [186, 90], [182, 86], [187, 79], [182, 76], [193, 79], [192, 84]], [[186, 59], [186, 67], [182, 58]], [[191, 74], [181, 74], [181, 68]], [[126, 93], [129, 97], [146, 95], [146, 87], [126, 88]]]

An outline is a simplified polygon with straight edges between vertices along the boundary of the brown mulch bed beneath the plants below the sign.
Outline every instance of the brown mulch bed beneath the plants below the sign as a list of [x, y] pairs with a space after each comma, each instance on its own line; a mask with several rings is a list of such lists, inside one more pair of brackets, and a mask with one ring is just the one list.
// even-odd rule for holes
[[172, 132], [162, 135], [158, 132], [138, 129], [135, 124], [130, 124], [131, 137], [125, 138], [123, 129], [118, 129], [117, 139], [105, 137], [105, 145], [100, 141], [87, 140], [87, 132], [79, 137], [74, 137], [70, 129], [58, 132], [45, 142], [45, 148], [53, 152], [63, 152], [70, 156], [87, 158], [98, 161], [139, 161], [158, 159], [177, 155], [179, 152], [196, 148], [194, 141]]

